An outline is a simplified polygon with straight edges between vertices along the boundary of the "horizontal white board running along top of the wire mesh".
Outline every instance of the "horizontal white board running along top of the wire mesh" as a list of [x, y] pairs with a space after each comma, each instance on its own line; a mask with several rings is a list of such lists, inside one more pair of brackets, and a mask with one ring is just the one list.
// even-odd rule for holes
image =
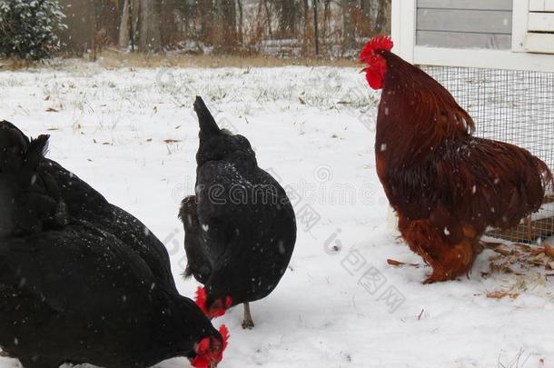
[[413, 64], [554, 72], [554, 56], [510, 51], [414, 47]]

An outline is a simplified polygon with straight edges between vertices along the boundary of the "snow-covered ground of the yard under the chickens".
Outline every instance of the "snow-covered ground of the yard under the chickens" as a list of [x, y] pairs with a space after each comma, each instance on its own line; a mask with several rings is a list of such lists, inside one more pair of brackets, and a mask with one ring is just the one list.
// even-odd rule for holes
[[[215, 320], [232, 333], [222, 367], [554, 367], [554, 285], [544, 270], [421, 285], [426, 267], [391, 227], [374, 167], [378, 95], [351, 68], [105, 70], [66, 65], [0, 73], [0, 118], [52, 135], [49, 156], [147, 224], [183, 281], [180, 200], [193, 193], [193, 96], [247, 136], [288, 185], [299, 220], [291, 269], [253, 303]], [[487, 293], [519, 293], [500, 300]], [[17, 363], [0, 358], [0, 367]], [[177, 359], [161, 368], [188, 366]]]

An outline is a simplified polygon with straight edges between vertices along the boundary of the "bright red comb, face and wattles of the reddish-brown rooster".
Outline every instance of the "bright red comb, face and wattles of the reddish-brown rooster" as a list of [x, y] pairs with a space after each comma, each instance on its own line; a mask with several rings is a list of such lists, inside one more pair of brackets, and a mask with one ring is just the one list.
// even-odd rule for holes
[[361, 50], [360, 61], [368, 65], [363, 68], [363, 72], [365, 72], [365, 77], [373, 89], [382, 88], [387, 72], [387, 62], [379, 52], [391, 51], [392, 45], [390, 36], [377, 35], [371, 38], [370, 42]]

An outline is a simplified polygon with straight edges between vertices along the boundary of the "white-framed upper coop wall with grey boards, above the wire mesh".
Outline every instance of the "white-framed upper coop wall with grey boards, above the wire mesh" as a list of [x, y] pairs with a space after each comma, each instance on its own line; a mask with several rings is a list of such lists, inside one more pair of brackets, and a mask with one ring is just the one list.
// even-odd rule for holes
[[413, 64], [554, 72], [554, 0], [392, 0], [392, 38]]

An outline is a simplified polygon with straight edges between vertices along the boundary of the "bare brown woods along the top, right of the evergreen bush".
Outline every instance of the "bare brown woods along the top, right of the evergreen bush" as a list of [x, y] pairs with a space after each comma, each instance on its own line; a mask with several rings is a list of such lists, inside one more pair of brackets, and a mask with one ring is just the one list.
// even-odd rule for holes
[[355, 55], [390, 33], [391, 0], [59, 0], [66, 49], [139, 52]]

